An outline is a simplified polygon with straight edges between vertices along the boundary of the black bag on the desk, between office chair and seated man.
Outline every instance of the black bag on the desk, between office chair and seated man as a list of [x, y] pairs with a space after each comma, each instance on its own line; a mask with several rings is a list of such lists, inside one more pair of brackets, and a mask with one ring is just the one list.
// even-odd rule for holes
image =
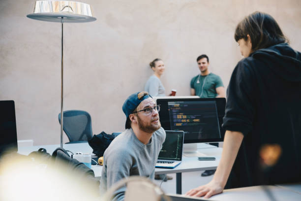
[[93, 149], [93, 154], [99, 158], [103, 156], [104, 151], [108, 148], [114, 138], [115, 136], [112, 134], [101, 132], [100, 134], [93, 135], [93, 137], [88, 140], [88, 143]]

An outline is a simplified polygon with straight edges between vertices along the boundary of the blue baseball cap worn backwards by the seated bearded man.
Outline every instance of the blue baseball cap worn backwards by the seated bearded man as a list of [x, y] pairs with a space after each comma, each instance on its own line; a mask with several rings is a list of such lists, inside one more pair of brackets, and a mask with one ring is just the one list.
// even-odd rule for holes
[[148, 98], [152, 98], [151, 95], [147, 92], [137, 92], [135, 94], [130, 95], [122, 105], [122, 111], [126, 116], [125, 129], [130, 128], [130, 120], [129, 115], [133, 113], [133, 111], [138, 107], [138, 105]]

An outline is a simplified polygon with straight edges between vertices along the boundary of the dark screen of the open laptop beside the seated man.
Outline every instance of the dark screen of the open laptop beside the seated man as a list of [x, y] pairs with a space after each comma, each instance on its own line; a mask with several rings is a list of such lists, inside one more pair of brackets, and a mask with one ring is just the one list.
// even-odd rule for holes
[[183, 152], [183, 131], [165, 131], [166, 138], [160, 150], [158, 159], [161, 160], [182, 160]]

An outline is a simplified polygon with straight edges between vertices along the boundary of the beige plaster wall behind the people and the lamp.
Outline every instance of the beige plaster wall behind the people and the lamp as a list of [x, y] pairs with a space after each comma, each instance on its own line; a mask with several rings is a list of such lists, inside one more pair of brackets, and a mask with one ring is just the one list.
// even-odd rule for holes
[[[60, 142], [60, 24], [31, 20], [32, 0], [0, 0], [0, 100], [15, 100], [19, 139]], [[241, 60], [238, 22], [268, 12], [301, 50], [300, 0], [83, 0], [97, 21], [64, 24], [64, 110], [90, 113], [93, 134], [124, 129], [123, 101], [143, 90], [149, 62], [161, 58], [167, 93], [189, 95], [210, 57], [225, 87]], [[67, 138], [64, 137], [64, 141]]]

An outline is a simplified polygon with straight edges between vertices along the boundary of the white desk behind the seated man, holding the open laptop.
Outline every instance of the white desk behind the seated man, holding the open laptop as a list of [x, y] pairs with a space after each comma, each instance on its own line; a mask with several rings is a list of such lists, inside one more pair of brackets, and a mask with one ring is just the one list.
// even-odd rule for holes
[[[52, 154], [56, 148], [60, 147], [59, 144], [55, 145], [41, 145], [41, 146], [29, 146], [29, 147], [20, 147], [18, 150], [19, 154], [29, 155], [32, 151], [37, 151], [39, 148], [45, 148], [48, 153]], [[198, 161], [197, 157], [185, 157], [182, 158], [182, 163], [175, 167], [174, 169], [166, 168], [155, 168], [155, 174], [167, 174], [167, 173], [176, 173], [176, 182], [177, 182], [177, 194], [181, 194], [182, 191], [182, 172], [190, 171], [202, 171], [208, 169], [216, 169], [222, 148], [211, 146], [208, 144], [203, 144], [201, 147], [208, 147], [199, 149], [202, 153], [215, 157], [215, 161]], [[92, 148], [88, 143], [74, 143], [74, 144], [64, 144], [63, 148], [69, 151], [72, 151], [74, 154], [76, 152], [82, 152], [83, 154], [92, 153]], [[94, 171], [95, 177], [101, 176], [102, 166], [92, 166], [91, 168]]]

